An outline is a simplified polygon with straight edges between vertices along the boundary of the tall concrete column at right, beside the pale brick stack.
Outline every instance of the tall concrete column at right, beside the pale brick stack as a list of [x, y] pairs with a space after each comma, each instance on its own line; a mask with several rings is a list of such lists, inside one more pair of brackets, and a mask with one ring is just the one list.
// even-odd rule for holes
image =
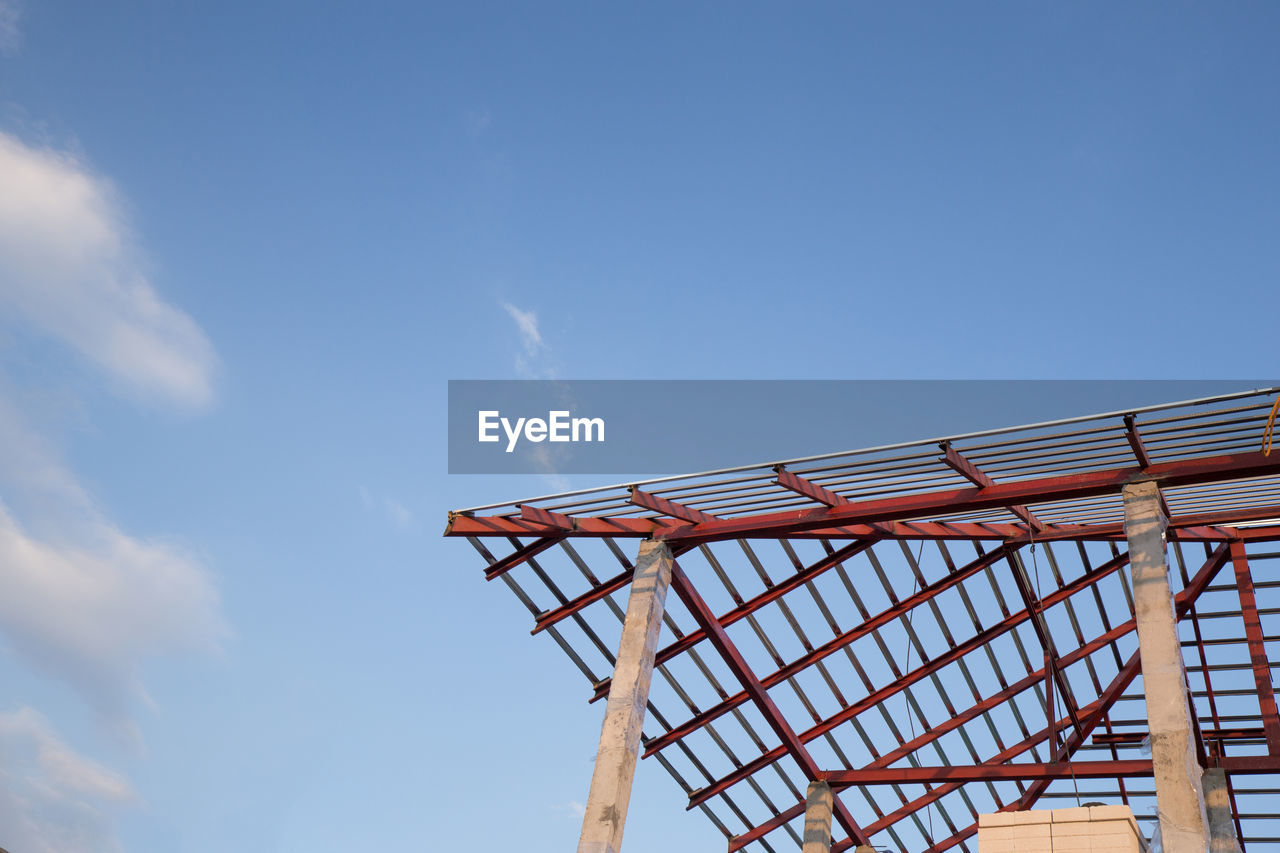
[[1124, 487], [1124, 526], [1156, 771], [1160, 838], [1166, 853], [1204, 853], [1208, 821], [1201, 789], [1203, 768], [1192, 730], [1198, 721], [1190, 719], [1187, 704], [1187, 675], [1169, 590], [1167, 523], [1155, 483]]

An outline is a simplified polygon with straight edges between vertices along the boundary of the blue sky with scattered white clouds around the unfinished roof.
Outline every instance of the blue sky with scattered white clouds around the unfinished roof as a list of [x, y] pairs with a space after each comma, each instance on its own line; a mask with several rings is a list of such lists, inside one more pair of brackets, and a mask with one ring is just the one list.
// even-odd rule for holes
[[1277, 24], [0, 0], [0, 844], [572, 845], [445, 382], [1274, 373]]

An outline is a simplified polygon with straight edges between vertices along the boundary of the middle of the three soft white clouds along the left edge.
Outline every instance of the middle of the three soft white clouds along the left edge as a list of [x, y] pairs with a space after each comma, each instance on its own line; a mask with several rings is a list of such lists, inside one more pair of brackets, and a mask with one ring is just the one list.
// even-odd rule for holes
[[4, 400], [0, 482], [38, 508], [24, 525], [0, 503], [0, 633], [14, 654], [76, 688], [113, 734], [137, 743], [131, 708], [148, 702], [143, 662], [212, 652], [227, 634], [212, 579], [177, 546], [108, 520]]

